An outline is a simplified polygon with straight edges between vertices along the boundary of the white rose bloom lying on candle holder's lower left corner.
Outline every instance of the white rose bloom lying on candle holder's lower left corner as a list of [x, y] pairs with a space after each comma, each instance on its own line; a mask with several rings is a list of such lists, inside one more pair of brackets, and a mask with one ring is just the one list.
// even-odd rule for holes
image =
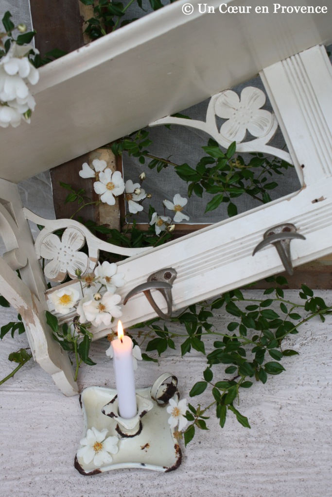
[[87, 436], [80, 440], [83, 447], [77, 451], [77, 457], [83, 457], [85, 464], [90, 464], [93, 461], [97, 468], [110, 464], [112, 462], [111, 454], [116, 454], [118, 451], [118, 438], [117, 436], [106, 438], [108, 432], [107, 428], [99, 431], [94, 426], [88, 429]]

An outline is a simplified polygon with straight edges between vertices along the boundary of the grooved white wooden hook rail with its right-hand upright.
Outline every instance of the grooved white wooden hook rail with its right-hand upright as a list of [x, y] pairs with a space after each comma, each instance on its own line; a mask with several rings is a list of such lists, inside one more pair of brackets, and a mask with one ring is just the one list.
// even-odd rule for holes
[[[263, 234], [278, 224], [292, 223], [306, 237], [305, 241], [291, 243], [294, 266], [332, 251], [332, 113], [330, 99], [326, 101], [332, 92], [332, 68], [326, 51], [324, 47], [313, 47], [266, 68], [261, 77], [284, 130], [302, 189], [119, 262], [119, 271], [124, 272], [127, 281], [119, 291], [122, 297], [146, 282], [152, 272], [166, 267], [174, 267], [178, 273], [172, 291], [174, 311], [283, 271], [273, 246], [252, 256]], [[301, 91], [301, 88], [305, 89]], [[161, 123], [165, 121], [167, 119], [160, 120]], [[289, 121], [295, 122], [296, 126]], [[320, 158], [323, 156], [326, 160], [322, 164]], [[26, 215], [43, 224], [40, 218], [27, 211]], [[56, 223], [65, 226], [63, 220]], [[101, 242], [96, 243], [102, 248]], [[103, 244], [104, 248], [108, 247]], [[109, 251], [112, 251], [111, 247]], [[80, 290], [75, 282], [65, 286], [73, 284]], [[161, 298], [159, 301], [165, 310], [165, 303]], [[48, 305], [54, 312], [50, 300]], [[138, 294], [123, 307], [121, 321], [128, 327], [153, 316], [155, 313], [145, 296]], [[95, 331], [95, 337], [105, 336], [108, 332], [100, 328]]]

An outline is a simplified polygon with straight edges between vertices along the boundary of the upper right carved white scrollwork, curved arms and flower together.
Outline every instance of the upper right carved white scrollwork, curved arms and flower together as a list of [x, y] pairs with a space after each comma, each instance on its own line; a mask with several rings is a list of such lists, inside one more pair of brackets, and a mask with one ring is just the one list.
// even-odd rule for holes
[[[211, 97], [205, 122], [166, 116], [150, 123], [149, 126], [180, 124], [200, 129], [212, 136], [225, 149], [232, 142], [236, 142], [236, 152], [262, 152], [292, 163], [287, 152], [267, 145], [273, 138], [278, 123], [273, 113], [261, 108], [265, 101], [265, 93], [253, 86], [245, 87], [240, 97], [235, 91], [224, 90]], [[225, 119], [220, 130], [216, 116]], [[247, 131], [255, 139], [243, 142]]]

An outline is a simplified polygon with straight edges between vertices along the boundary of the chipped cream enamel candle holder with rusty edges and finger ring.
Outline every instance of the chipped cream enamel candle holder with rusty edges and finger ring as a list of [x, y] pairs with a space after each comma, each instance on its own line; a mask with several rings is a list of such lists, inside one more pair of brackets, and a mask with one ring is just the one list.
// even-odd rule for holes
[[[170, 380], [167, 382], [167, 380]], [[117, 452], [110, 454], [111, 462], [89, 464], [76, 454], [75, 468], [87, 476], [121, 468], [142, 468], [169, 472], [181, 464], [181, 449], [174, 436], [166, 411], [169, 400], [179, 400], [177, 378], [164, 373], [152, 387], [136, 389], [137, 414], [124, 419], [118, 414], [117, 392], [104, 387], [88, 387], [80, 395], [84, 418], [83, 437], [92, 427], [108, 430], [106, 437], [116, 436]], [[78, 453], [80, 452], [80, 449]]]

